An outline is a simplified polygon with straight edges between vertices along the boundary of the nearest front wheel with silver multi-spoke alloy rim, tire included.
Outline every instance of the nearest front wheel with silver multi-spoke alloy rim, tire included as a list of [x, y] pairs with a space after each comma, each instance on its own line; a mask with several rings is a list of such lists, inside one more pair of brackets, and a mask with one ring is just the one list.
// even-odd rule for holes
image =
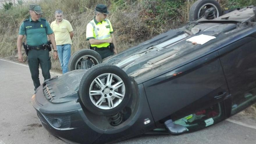
[[118, 66], [99, 64], [86, 71], [79, 98], [92, 113], [109, 116], [121, 111], [131, 97], [131, 81]]

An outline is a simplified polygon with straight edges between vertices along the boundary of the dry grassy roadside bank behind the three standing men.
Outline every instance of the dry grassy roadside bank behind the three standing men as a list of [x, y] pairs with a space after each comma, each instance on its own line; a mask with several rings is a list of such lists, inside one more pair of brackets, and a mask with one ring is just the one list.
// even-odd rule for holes
[[[153, 36], [163, 33], [168, 29], [175, 28], [180, 24], [187, 21], [186, 17], [174, 17], [167, 22], [161, 23], [157, 26], [149, 26], [143, 20], [150, 20], [152, 17], [143, 17], [143, 6], [141, 3], [134, 2], [133, 0], [127, 1], [125, 9], [117, 8], [111, 4], [113, 1], [103, 0], [41, 0], [38, 2], [44, 12], [43, 17], [48, 22], [55, 20], [54, 12], [56, 9], [61, 9], [64, 12], [64, 19], [70, 21], [74, 29], [72, 54], [79, 50], [89, 47], [86, 41], [86, 25], [94, 17], [94, 8], [97, 3], [104, 3], [108, 6], [111, 14], [108, 19], [111, 20], [114, 29], [114, 35], [117, 40], [118, 52], [123, 51], [129, 47], [135, 46]], [[15, 6], [12, 10], [1, 11], [0, 15], [0, 56], [10, 57], [17, 56], [16, 41], [20, 24], [24, 19], [29, 17], [28, 7], [30, 3], [23, 6]], [[190, 2], [187, 2], [188, 6]], [[180, 14], [187, 15], [188, 10], [181, 10]], [[6, 31], [8, 30], [8, 31]], [[25, 40], [25, 39], [24, 39]], [[6, 48], [7, 47], [7, 48]], [[23, 50], [22, 50], [23, 51]], [[23, 51], [24, 53], [24, 51]], [[26, 56], [24, 54], [24, 58]], [[58, 67], [53, 67], [58, 69]]]

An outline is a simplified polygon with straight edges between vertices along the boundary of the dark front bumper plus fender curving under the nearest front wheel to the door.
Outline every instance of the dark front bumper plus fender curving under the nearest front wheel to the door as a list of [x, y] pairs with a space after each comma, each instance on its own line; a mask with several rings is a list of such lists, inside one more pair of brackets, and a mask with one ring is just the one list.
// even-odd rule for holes
[[[88, 111], [78, 102], [78, 98], [50, 102], [43, 94], [42, 85], [33, 95], [32, 105], [43, 127], [64, 141], [86, 144], [117, 142], [155, 129], [143, 85], [138, 87], [133, 88], [134, 96], [126, 107], [131, 111], [129, 117], [118, 126], [110, 125], [109, 117]], [[145, 120], [151, 122], [145, 124]]]

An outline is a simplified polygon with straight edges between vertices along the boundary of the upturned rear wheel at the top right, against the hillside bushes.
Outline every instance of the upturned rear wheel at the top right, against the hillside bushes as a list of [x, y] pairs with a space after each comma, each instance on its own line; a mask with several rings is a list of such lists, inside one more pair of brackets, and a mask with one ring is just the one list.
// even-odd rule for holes
[[201, 18], [209, 8], [214, 9], [216, 17], [222, 15], [221, 6], [216, 0], [198, 0], [193, 3], [189, 10], [189, 21], [192, 22]]

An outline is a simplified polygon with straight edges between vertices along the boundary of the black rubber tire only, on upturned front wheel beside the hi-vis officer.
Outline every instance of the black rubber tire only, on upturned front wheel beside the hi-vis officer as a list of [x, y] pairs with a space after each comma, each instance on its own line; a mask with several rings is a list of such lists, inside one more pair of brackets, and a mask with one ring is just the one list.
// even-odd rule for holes
[[99, 63], [102, 63], [102, 58], [99, 55], [99, 53], [91, 49], [81, 49], [79, 51], [76, 51], [68, 61], [68, 71], [76, 70], [76, 63], [78, 59], [81, 58], [81, 56], [85, 56], [85, 55], [94, 56], [99, 61]]

